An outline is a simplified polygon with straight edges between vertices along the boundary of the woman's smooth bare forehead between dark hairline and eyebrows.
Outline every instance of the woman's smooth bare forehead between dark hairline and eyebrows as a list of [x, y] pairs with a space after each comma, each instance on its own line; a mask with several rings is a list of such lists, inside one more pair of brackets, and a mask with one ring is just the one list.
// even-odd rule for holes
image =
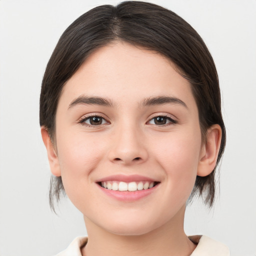
[[[155, 51], [124, 42], [103, 46], [89, 55], [66, 82], [61, 98], [82, 94], [133, 101], [150, 96], [175, 96], [193, 100], [190, 83], [175, 65]], [[182, 100], [183, 100], [182, 99]]]

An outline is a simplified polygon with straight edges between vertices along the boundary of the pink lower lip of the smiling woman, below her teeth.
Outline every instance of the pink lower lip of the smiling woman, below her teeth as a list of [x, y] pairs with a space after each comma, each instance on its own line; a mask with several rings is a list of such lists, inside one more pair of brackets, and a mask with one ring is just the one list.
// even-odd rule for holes
[[115, 198], [120, 201], [136, 201], [139, 200], [145, 196], [148, 196], [152, 192], [157, 189], [159, 184], [148, 188], [148, 189], [142, 189], [142, 190], [136, 190], [136, 191], [118, 191], [118, 190], [111, 190], [106, 189], [100, 185], [98, 187], [108, 196]]

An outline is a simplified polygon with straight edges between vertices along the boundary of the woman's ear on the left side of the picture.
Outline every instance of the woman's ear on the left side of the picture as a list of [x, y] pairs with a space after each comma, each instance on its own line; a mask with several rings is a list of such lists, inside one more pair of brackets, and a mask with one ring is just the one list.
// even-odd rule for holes
[[41, 135], [42, 135], [43, 143], [47, 150], [50, 171], [54, 176], [61, 176], [59, 162], [58, 162], [58, 156], [57, 156], [54, 146], [51, 142], [49, 133], [44, 126], [41, 126]]

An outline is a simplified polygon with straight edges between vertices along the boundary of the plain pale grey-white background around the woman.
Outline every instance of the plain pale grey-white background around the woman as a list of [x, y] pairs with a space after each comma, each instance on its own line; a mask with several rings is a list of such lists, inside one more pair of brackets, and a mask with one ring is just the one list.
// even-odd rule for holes
[[[52, 255], [77, 235], [83, 218], [68, 199], [48, 206], [50, 171], [38, 101], [46, 63], [63, 30], [111, 0], [0, 0], [0, 255]], [[233, 256], [256, 255], [256, 1], [152, 0], [188, 21], [217, 66], [227, 145], [212, 210], [186, 210], [187, 234], [226, 243]]]

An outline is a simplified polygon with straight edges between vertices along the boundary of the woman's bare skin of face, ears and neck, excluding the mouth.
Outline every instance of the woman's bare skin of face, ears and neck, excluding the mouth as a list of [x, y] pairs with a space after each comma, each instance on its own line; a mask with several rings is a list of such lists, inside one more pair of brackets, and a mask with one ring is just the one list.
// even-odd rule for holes
[[[196, 175], [208, 175], [215, 166], [221, 129], [210, 127], [202, 143], [190, 84], [173, 67], [151, 50], [123, 42], [104, 46], [65, 84], [54, 145], [41, 128], [51, 171], [61, 175], [84, 216], [89, 240], [83, 255], [180, 256], [196, 246], [184, 233], [185, 204]], [[101, 97], [111, 105], [77, 103], [81, 96]], [[178, 101], [143, 104], [159, 96]], [[101, 124], [86, 119], [95, 115]], [[157, 116], [165, 116], [166, 123], [156, 123]], [[147, 196], [123, 201], [96, 183], [113, 174], [143, 175], [159, 183]]]

